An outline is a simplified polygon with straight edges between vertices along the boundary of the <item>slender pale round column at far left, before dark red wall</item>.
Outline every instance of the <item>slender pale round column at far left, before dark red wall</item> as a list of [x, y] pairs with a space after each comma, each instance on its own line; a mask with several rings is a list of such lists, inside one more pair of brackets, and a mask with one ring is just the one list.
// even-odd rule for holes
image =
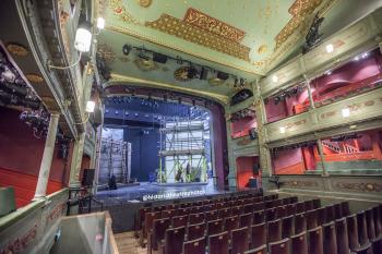
[[50, 114], [50, 121], [49, 121], [47, 137], [45, 141], [43, 160], [39, 167], [35, 198], [45, 197], [47, 194], [47, 186], [48, 186], [48, 180], [50, 174], [51, 160], [53, 158], [56, 134], [57, 134], [59, 118], [60, 118], [60, 114], [58, 112], [52, 112]]

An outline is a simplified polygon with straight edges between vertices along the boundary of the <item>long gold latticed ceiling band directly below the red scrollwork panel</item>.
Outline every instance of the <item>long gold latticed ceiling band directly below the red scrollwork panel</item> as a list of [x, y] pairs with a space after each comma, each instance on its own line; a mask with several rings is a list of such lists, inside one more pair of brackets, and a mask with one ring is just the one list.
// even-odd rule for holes
[[251, 49], [249, 47], [168, 14], [163, 14], [154, 22], [146, 22], [145, 26], [199, 44], [231, 57], [250, 61], [249, 52]]

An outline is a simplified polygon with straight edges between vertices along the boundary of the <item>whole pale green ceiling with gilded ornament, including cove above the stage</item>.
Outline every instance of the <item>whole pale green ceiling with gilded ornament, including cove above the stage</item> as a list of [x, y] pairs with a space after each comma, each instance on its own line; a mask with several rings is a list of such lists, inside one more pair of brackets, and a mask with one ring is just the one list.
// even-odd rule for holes
[[[341, 2], [341, 4], [338, 4]], [[106, 29], [98, 51], [111, 70], [111, 82], [176, 87], [224, 101], [235, 93], [234, 80], [180, 82], [179, 63], [142, 64], [124, 56], [129, 44], [252, 82], [298, 51], [317, 12], [338, 13], [345, 0], [99, 0]], [[168, 88], [167, 87], [167, 88]]]

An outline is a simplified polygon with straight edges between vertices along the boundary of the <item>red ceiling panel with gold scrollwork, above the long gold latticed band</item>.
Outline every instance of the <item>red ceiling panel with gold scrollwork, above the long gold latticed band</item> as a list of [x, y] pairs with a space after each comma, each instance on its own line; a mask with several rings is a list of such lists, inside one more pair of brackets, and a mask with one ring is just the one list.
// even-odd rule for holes
[[189, 8], [187, 10], [183, 20], [189, 24], [212, 32], [218, 36], [234, 40], [236, 43], [240, 43], [246, 36], [246, 32], [232, 27], [193, 8]]

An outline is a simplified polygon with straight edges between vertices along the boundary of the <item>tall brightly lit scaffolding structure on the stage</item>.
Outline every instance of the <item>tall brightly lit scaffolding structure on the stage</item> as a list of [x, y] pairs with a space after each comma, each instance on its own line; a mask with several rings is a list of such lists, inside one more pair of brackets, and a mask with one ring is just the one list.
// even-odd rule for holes
[[206, 182], [205, 120], [163, 118], [157, 182]]

